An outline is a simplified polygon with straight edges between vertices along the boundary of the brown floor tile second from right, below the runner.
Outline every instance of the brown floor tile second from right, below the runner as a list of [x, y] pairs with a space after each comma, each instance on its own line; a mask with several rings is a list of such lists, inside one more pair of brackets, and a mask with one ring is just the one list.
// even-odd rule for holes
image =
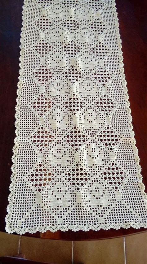
[[124, 264], [123, 238], [75, 241], [74, 264]]

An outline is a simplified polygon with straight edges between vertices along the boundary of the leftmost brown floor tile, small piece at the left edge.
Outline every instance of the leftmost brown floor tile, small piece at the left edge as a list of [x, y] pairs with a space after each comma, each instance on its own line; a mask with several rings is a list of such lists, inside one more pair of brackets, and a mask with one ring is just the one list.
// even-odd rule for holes
[[18, 253], [19, 237], [0, 232], [0, 256], [13, 256]]

